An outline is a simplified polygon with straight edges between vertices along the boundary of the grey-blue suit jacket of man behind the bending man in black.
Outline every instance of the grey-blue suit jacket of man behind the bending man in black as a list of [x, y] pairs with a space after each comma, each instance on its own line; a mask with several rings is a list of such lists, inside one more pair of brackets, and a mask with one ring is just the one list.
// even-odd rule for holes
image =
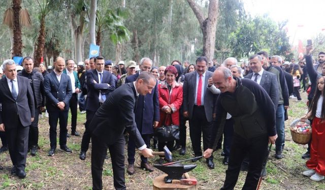
[[[247, 74], [245, 76], [245, 79], [251, 79], [253, 77], [253, 74], [254, 72]], [[264, 90], [268, 93], [274, 104], [275, 109], [277, 109], [279, 102], [279, 86], [276, 75], [264, 70], [259, 85], [262, 86]]]

